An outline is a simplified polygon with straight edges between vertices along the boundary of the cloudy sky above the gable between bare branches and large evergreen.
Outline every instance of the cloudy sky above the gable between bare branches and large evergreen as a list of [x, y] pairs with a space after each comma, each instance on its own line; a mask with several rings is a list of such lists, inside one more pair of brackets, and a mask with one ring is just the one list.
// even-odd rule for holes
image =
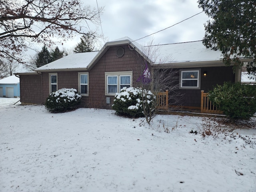
[[[96, 0], [84, 0], [84, 2], [97, 8]], [[98, 6], [104, 6], [101, 15], [102, 31], [108, 40], [125, 36], [136, 40], [202, 11], [198, 8], [197, 0], [98, 0]], [[144, 44], [152, 38], [155, 44], [202, 40], [204, 23], [208, 19], [203, 12], [137, 42]]]

